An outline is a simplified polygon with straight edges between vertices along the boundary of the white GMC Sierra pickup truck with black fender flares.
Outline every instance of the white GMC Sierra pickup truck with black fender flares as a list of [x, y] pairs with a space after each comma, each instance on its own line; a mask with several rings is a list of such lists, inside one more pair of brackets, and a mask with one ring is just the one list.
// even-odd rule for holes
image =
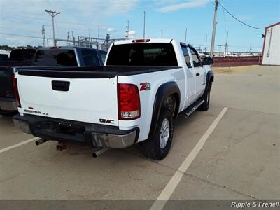
[[173, 120], [207, 111], [214, 73], [210, 57], [173, 39], [113, 43], [105, 66], [19, 69], [14, 87], [23, 132], [94, 148], [141, 143], [148, 158], [165, 158]]

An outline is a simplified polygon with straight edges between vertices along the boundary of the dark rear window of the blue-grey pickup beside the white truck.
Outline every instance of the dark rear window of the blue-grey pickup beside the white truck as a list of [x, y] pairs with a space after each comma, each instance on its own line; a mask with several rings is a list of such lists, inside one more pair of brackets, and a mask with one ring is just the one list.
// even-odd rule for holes
[[34, 66], [77, 66], [74, 50], [38, 50]]

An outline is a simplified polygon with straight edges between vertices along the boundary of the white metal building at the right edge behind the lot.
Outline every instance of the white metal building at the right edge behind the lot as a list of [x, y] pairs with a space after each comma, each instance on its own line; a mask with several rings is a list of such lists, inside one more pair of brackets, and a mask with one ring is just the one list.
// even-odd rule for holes
[[280, 22], [265, 27], [262, 65], [280, 65]]

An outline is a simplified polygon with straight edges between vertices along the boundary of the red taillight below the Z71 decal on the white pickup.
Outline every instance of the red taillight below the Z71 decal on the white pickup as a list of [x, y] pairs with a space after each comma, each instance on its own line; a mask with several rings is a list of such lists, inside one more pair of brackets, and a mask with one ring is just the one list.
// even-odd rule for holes
[[134, 120], [140, 117], [140, 97], [137, 85], [118, 84], [118, 119]]

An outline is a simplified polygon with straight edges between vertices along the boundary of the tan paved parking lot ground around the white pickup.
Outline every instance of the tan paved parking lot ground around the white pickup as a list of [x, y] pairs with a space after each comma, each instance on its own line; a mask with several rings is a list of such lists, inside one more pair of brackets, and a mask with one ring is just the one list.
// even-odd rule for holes
[[[148, 160], [137, 146], [92, 158], [92, 148], [33, 141], [0, 116], [2, 200], [156, 200], [182, 163], [225, 111], [189, 162], [170, 200], [273, 200], [280, 198], [280, 67], [253, 66], [216, 73], [211, 108], [175, 121], [167, 158]], [[225, 110], [225, 108], [228, 108]], [[151, 202], [153, 204], [153, 202]]]

